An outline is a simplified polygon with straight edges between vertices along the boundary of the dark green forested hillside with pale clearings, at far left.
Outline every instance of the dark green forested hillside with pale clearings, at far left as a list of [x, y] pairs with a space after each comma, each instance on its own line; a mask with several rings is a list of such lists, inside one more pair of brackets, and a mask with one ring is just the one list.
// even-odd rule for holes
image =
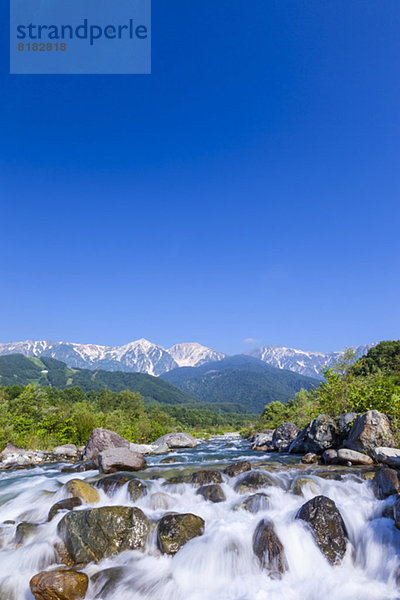
[[59, 389], [78, 386], [84, 392], [104, 388], [113, 392], [129, 389], [138, 392], [147, 401], [161, 404], [196, 402], [195, 398], [174, 385], [143, 373], [70, 369], [65, 363], [48, 357], [27, 358], [22, 354], [0, 356], [0, 385], [25, 386], [30, 383]]

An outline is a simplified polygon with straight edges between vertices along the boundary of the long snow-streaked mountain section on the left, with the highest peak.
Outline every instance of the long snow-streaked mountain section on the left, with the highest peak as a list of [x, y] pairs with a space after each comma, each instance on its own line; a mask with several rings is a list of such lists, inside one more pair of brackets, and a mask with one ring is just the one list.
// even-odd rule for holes
[[31, 341], [0, 344], [0, 355], [50, 356], [69, 367], [134, 371], [161, 375], [180, 366], [195, 367], [221, 360], [225, 355], [197, 343], [176, 344], [169, 350], [140, 339], [123, 346], [99, 346], [72, 342]]

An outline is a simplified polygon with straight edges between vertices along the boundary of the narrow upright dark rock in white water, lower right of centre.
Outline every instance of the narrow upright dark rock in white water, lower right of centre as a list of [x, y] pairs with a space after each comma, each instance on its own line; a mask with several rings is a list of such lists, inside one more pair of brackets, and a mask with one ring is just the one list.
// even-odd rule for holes
[[253, 535], [253, 552], [262, 568], [269, 571], [271, 577], [279, 578], [286, 571], [287, 563], [283, 545], [272, 521], [263, 519], [257, 525]]

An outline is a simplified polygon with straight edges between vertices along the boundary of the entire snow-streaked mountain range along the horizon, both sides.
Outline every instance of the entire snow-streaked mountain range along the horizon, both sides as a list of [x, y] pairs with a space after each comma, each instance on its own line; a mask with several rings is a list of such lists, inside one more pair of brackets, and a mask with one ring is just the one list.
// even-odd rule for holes
[[[354, 348], [356, 355], [366, 354], [373, 345], [357, 346]], [[123, 346], [46, 340], [0, 344], [0, 355], [7, 354], [23, 354], [38, 358], [48, 356], [63, 361], [72, 368], [138, 372], [153, 376], [160, 376], [182, 367], [199, 367], [228, 358], [226, 354], [196, 342], [175, 344], [166, 349], [143, 338]], [[306, 352], [273, 345], [245, 353], [271, 367], [294, 371], [317, 379], [322, 378], [321, 367], [331, 365], [341, 354], [342, 352]]]

